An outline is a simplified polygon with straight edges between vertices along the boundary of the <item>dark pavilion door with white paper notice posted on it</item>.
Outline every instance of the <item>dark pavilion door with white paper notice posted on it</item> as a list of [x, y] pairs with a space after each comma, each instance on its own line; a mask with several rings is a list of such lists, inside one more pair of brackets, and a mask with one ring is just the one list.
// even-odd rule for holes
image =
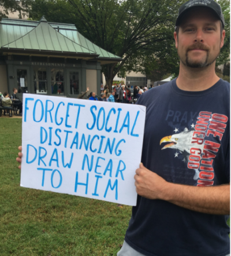
[[14, 66], [14, 87], [18, 90], [18, 97], [21, 100], [23, 93], [33, 93], [28, 66]]

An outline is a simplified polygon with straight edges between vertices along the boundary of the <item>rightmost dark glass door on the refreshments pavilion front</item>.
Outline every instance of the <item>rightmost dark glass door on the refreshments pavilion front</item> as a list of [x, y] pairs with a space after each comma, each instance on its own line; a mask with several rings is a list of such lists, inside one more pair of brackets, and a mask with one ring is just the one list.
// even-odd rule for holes
[[67, 68], [66, 70], [66, 89], [68, 96], [77, 98], [81, 94], [81, 72], [74, 68]]

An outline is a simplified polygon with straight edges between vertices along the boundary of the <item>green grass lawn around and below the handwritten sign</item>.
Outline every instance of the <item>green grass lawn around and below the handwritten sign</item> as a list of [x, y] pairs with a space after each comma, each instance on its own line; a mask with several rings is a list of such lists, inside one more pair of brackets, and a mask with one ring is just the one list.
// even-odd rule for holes
[[131, 207], [20, 187], [21, 119], [0, 119], [0, 255], [116, 255]]

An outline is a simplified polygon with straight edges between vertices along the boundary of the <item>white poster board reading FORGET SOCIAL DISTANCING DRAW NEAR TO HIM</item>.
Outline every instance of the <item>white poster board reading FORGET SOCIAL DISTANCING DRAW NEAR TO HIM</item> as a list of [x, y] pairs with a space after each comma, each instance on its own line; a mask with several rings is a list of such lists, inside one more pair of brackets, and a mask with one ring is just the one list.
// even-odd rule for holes
[[21, 186], [136, 205], [146, 107], [24, 94]]

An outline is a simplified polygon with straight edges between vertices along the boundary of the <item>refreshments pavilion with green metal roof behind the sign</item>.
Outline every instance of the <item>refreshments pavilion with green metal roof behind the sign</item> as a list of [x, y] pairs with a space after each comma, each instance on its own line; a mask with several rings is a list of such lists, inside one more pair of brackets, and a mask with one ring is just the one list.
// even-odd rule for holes
[[121, 57], [95, 45], [75, 25], [2, 19], [0, 92], [77, 97], [90, 87], [100, 94], [101, 65]]

